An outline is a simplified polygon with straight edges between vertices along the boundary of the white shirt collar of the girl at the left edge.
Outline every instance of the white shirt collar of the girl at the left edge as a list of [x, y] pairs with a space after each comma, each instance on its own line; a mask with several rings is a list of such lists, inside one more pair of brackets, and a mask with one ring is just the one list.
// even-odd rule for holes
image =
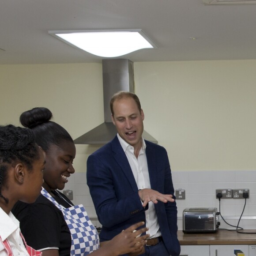
[[15, 230], [19, 229], [19, 221], [10, 212], [9, 215], [0, 207], [0, 237], [4, 241]]

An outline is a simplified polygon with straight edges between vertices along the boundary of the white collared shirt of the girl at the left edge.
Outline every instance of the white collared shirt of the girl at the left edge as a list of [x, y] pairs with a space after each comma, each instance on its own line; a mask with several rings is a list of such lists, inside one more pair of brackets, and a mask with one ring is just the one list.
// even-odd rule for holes
[[0, 256], [8, 256], [2, 242], [5, 239], [9, 242], [13, 255], [29, 256], [19, 233], [19, 221], [11, 212], [8, 215], [0, 207]]

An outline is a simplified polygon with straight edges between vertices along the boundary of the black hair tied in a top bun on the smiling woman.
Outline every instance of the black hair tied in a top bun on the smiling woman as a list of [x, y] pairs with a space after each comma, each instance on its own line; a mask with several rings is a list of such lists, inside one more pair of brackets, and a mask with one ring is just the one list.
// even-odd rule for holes
[[20, 123], [34, 132], [36, 143], [47, 152], [49, 147], [56, 145], [60, 147], [66, 141], [73, 142], [70, 134], [53, 121], [52, 112], [44, 107], [37, 107], [21, 114]]

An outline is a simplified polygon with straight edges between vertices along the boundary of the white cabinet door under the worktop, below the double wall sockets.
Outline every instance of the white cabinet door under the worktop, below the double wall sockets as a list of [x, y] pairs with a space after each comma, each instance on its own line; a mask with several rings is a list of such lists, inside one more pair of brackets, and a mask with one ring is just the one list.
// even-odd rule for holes
[[241, 256], [250, 256], [248, 245], [210, 245], [210, 256], [234, 256], [235, 250], [241, 251]]

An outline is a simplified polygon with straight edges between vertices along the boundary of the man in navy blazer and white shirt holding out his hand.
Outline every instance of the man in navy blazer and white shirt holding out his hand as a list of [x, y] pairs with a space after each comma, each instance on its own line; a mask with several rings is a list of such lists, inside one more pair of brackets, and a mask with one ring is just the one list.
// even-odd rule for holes
[[142, 138], [144, 113], [136, 94], [114, 94], [110, 108], [117, 136], [87, 160], [87, 184], [102, 224], [100, 241], [144, 221], [150, 239], [144, 251], [135, 254], [179, 256], [177, 206], [167, 152]]

